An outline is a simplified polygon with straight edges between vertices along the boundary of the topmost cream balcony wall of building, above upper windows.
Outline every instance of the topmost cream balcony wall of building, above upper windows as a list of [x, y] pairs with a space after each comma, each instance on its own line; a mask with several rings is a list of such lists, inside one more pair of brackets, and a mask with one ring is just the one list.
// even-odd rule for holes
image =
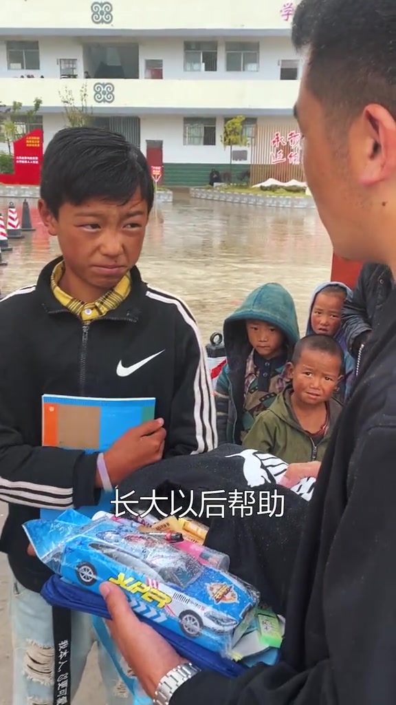
[[[290, 32], [292, 16], [299, 0], [199, 0], [192, 7], [180, 0], [68, 0], [59, 6], [54, 0], [26, 2], [1, 0], [1, 34], [178, 36], [194, 32], [219, 31], [228, 35], [249, 32]], [[61, 9], [61, 11], [60, 11]], [[18, 24], [19, 23], [19, 24]], [[201, 37], [202, 38], [202, 37]]]

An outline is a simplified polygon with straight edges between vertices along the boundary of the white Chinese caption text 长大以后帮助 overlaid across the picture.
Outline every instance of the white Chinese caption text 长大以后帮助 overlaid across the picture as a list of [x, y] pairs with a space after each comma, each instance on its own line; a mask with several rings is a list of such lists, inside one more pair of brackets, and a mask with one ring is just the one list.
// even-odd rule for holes
[[[231, 511], [233, 517], [251, 517], [254, 513], [266, 514], [270, 517], [282, 517], [285, 510], [285, 497], [282, 494], [278, 494], [276, 487], [273, 487], [271, 491], [263, 490], [259, 492], [254, 492], [252, 490], [233, 490], [231, 492], [225, 492], [222, 489], [212, 490], [212, 491], [202, 491], [199, 494], [199, 504], [200, 509], [197, 512], [194, 506], [197, 507], [197, 498], [194, 496], [194, 492], [191, 490], [187, 493], [187, 496], [182, 490], [172, 491], [171, 498], [169, 497], [159, 497], [156, 496], [155, 490], [152, 491], [149, 497], [133, 498], [135, 491], [125, 494], [120, 497], [118, 489], [116, 489], [116, 498], [111, 502], [115, 506], [116, 517], [123, 517], [125, 514], [132, 515], [132, 518], [137, 517], [137, 512], [133, 510], [135, 505], [139, 505], [142, 501], [149, 501], [150, 506], [146, 512], [141, 513], [140, 516], [143, 518], [145, 515], [156, 510], [162, 517], [168, 516], [178, 516], [180, 518], [186, 515], [194, 517], [225, 517], [225, 507]], [[186, 499], [188, 506], [186, 508], [186, 503], [180, 505], [181, 499]], [[166, 501], [167, 511], [163, 512], [161, 509], [161, 501]], [[171, 511], [168, 509], [168, 503], [170, 501]], [[184, 508], [183, 508], [184, 507]], [[128, 518], [128, 517], [126, 517]]]

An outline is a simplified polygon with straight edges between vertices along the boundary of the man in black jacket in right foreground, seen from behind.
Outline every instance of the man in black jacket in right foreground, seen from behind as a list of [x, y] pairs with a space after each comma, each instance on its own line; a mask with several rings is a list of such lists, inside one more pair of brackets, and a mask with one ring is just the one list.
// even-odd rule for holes
[[[395, 277], [395, 1], [302, 0], [293, 21], [309, 48], [296, 114], [319, 216], [340, 257]], [[395, 704], [395, 359], [393, 288], [307, 508], [276, 666], [235, 680], [181, 666], [104, 584], [113, 637], [156, 704]]]

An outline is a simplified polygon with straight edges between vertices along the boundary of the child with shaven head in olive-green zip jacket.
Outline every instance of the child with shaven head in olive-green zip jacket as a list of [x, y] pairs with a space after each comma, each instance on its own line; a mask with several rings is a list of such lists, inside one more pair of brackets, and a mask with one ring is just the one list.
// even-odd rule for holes
[[[332, 398], [342, 362], [342, 349], [334, 338], [302, 338], [287, 364], [291, 385], [256, 418], [243, 446], [287, 463], [321, 461], [342, 409]], [[318, 462], [315, 467], [317, 474]]]

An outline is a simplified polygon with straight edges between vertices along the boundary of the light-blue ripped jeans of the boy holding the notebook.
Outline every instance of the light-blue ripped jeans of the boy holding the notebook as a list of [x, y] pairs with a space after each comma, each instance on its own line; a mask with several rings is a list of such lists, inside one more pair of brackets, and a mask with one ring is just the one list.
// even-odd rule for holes
[[[13, 639], [13, 705], [52, 705], [54, 699], [54, 635], [52, 609], [41, 595], [11, 577], [10, 620]], [[89, 615], [72, 613], [71, 697], [78, 690], [96, 633]], [[111, 658], [98, 643], [99, 668], [107, 705], [132, 705]], [[92, 684], [92, 687], [95, 687]]]

